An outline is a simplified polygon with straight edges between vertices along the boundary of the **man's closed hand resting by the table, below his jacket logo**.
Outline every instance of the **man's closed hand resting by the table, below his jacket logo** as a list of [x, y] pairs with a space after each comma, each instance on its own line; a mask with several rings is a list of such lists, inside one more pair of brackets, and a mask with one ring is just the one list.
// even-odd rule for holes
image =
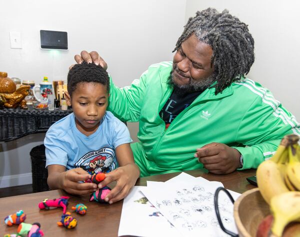
[[222, 143], [213, 142], [197, 148], [194, 157], [213, 174], [229, 174], [240, 166], [240, 153]]

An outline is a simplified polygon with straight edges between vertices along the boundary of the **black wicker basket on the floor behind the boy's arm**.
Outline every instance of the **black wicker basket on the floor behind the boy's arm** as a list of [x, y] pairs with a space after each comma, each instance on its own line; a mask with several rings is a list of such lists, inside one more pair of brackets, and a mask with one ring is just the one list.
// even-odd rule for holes
[[47, 185], [48, 171], [45, 168], [45, 146], [39, 145], [33, 147], [30, 151], [31, 171], [32, 171], [32, 189], [33, 192], [48, 191]]

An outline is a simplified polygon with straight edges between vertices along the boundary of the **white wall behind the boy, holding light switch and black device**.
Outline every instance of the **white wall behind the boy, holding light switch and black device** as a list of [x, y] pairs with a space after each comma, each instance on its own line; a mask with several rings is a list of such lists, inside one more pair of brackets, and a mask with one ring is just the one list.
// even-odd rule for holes
[[[100, 53], [122, 87], [149, 64], [172, 59], [183, 30], [185, 0], [9, 0], [1, 1], [0, 8], [0, 71], [9, 77], [35, 83], [43, 76], [65, 80], [73, 56], [85, 49]], [[67, 31], [69, 50], [41, 50], [40, 29]], [[21, 49], [10, 48], [9, 31], [21, 33]], [[128, 127], [136, 141], [137, 125]], [[43, 136], [0, 144], [0, 188], [30, 182], [29, 151]]]

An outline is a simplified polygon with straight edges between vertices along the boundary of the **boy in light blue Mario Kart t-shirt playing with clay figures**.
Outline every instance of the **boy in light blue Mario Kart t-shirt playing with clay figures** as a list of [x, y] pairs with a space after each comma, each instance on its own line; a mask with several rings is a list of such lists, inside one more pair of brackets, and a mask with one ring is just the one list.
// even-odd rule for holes
[[[47, 183], [51, 189], [81, 195], [116, 181], [105, 201], [119, 201], [135, 184], [139, 168], [127, 127], [106, 111], [108, 74], [93, 63], [77, 64], [68, 73], [67, 91], [66, 102], [73, 113], [53, 124], [44, 139]], [[95, 172], [106, 173], [98, 187], [82, 183]]]

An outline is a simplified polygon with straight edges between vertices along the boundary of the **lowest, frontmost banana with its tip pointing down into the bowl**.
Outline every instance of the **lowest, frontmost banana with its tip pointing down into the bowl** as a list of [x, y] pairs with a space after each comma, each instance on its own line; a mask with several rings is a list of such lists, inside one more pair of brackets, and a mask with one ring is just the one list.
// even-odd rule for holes
[[274, 196], [270, 201], [270, 210], [273, 215], [271, 232], [281, 237], [287, 224], [300, 219], [300, 192], [286, 192]]

